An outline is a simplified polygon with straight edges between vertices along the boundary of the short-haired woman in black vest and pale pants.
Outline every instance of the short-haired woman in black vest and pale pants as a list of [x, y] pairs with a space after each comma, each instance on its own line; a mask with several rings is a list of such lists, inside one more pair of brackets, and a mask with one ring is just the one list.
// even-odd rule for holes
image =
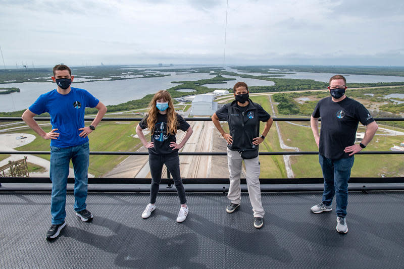
[[[227, 142], [227, 163], [230, 173], [227, 197], [230, 199], [230, 205], [227, 206], [226, 211], [232, 213], [240, 205], [240, 176], [244, 160], [245, 179], [252, 211], [254, 211], [254, 227], [261, 228], [264, 224], [265, 212], [261, 202], [258, 145], [264, 141], [273, 120], [260, 104], [248, 98], [247, 84], [237, 82], [233, 90], [235, 100], [225, 104], [212, 116], [213, 123]], [[224, 132], [219, 121], [227, 121], [230, 134]], [[260, 121], [266, 123], [261, 136]]]

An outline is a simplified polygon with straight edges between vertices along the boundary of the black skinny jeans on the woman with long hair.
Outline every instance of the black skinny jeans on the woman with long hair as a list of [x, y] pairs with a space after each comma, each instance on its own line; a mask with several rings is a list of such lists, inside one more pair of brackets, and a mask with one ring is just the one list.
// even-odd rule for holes
[[186, 203], [185, 189], [182, 185], [180, 175], [180, 158], [177, 152], [170, 154], [148, 154], [148, 164], [150, 166], [151, 174], [151, 186], [150, 186], [150, 203], [156, 202], [157, 193], [160, 188], [161, 173], [163, 170], [163, 164], [166, 165], [171, 177], [174, 180], [174, 185], [177, 188], [178, 197], [181, 204]]

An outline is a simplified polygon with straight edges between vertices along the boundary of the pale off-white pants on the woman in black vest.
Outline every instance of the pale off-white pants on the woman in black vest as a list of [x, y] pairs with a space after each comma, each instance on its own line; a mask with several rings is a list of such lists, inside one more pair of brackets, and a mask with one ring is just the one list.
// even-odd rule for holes
[[[227, 163], [229, 165], [230, 173], [230, 187], [227, 198], [232, 203], [239, 204], [241, 202], [241, 187], [240, 176], [241, 166], [243, 159], [237, 150], [230, 150], [227, 148]], [[254, 217], [264, 217], [264, 208], [261, 202], [261, 189], [260, 189], [260, 162], [258, 156], [252, 159], [244, 159], [245, 170], [247, 175], [245, 177], [247, 182], [247, 189], [249, 200], [251, 201], [252, 211]]]

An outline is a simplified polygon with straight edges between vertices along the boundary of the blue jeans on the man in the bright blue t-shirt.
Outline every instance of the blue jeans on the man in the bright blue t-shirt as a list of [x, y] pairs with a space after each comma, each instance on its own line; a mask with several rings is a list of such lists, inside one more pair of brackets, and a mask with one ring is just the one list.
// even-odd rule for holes
[[62, 224], [66, 218], [66, 187], [70, 159], [74, 169], [74, 210], [78, 212], [86, 208], [89, 156], [88, 142], [72, 147], [51, 146], [52, 224]]

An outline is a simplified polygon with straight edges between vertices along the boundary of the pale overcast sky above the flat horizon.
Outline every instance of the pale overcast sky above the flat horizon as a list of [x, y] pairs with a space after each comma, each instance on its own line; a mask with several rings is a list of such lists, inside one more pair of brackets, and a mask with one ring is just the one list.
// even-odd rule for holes
[[[225, 63], [403, 66], [403, 3], [229, 0]], [[7, 66], [223, 65], [225, 22], [226, 0], [0, 0], [0, 46]]]

